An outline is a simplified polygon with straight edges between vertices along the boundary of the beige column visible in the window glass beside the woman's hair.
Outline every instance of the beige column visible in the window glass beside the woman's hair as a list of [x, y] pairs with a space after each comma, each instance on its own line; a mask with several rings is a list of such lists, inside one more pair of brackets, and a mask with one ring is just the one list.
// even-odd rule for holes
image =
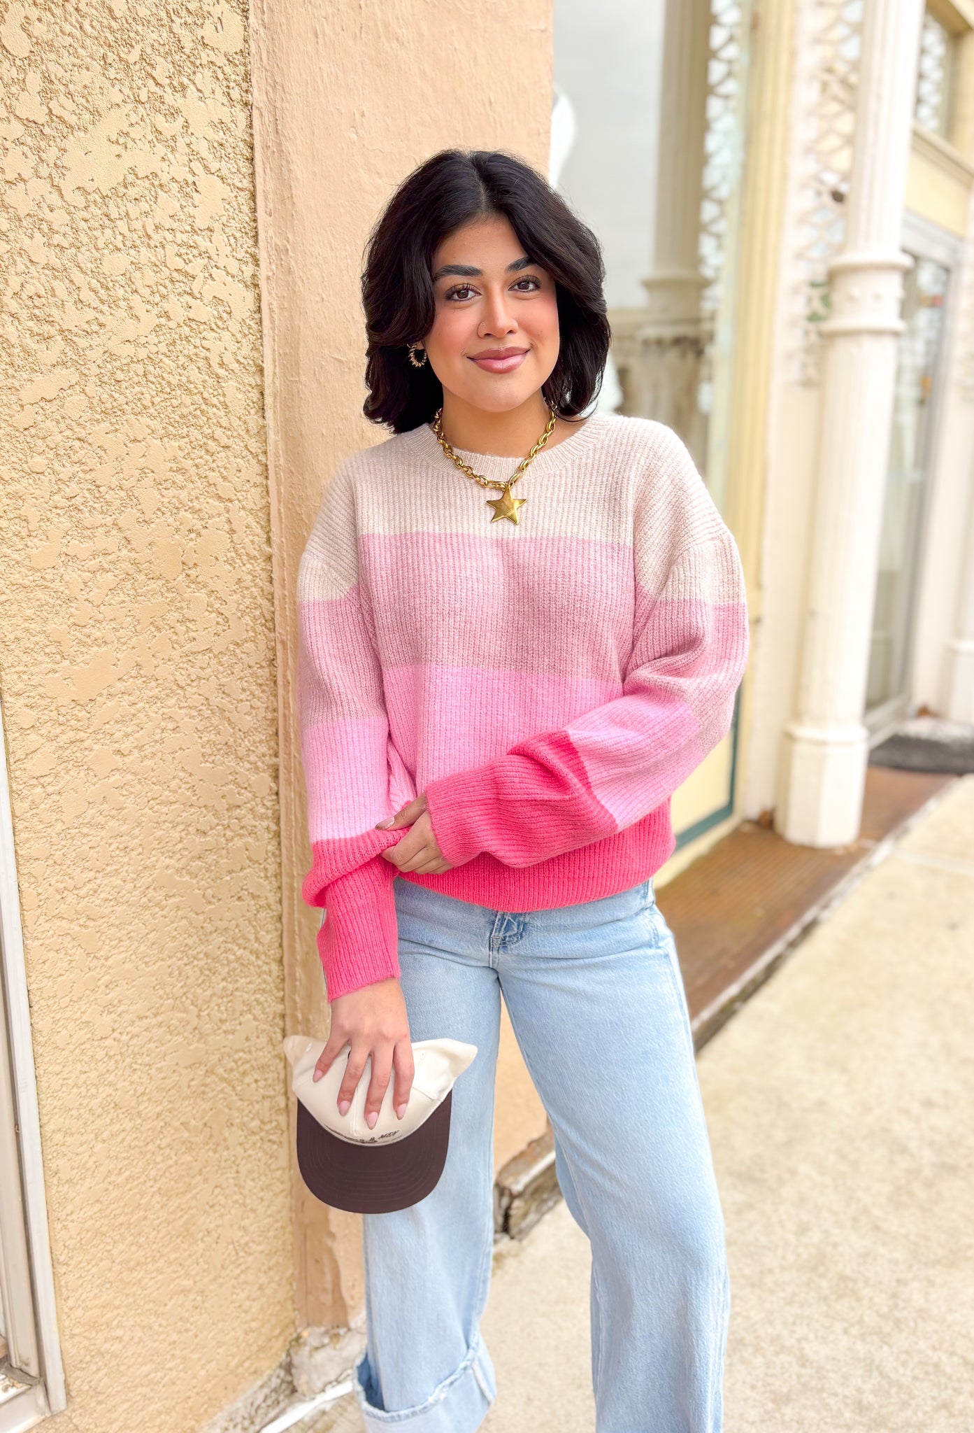
[[643, 279], [646, 318], [633, 335], [629, 365], [633, 406], [676, 428], [700, 466], [698, 381], [709, 335], [700, 318], [706, 279], [698, 255], [709, 36], [710, 0], [667, 0], [653, 267]]

